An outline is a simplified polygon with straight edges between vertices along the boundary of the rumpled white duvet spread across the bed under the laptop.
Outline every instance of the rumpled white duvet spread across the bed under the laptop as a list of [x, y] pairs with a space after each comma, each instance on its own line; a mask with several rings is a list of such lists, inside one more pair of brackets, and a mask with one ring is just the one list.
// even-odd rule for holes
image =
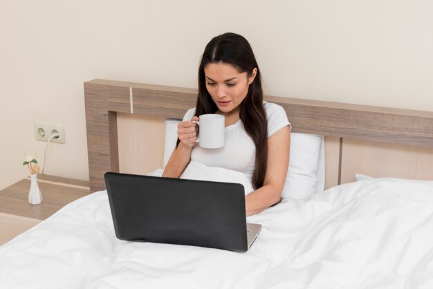
[[433, 288], [433, 187], [364, 180], [248, 217], [246, 253], [116, 239], [107, 192], [0, 247], [0, 288]]

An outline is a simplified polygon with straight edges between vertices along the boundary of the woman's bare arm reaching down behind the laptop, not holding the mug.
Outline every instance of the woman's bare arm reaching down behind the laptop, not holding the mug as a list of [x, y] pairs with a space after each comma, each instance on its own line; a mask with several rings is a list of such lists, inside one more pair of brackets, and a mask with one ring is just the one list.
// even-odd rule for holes
[[263, 187], [245, 198], [246, 214], [257, 214], [281, 200], [286, 181], [291, 133], [288, 126], [268, 138], [268, 162]]

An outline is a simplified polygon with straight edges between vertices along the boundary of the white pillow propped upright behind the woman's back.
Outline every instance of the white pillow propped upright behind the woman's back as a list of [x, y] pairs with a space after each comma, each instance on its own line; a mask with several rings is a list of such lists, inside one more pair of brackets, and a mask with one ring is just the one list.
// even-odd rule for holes
[[[165, 120], [164, 163], [176, 147], [177, 125], [180, 120]], [[291, 133], [291, 154], [282, 198], [308, 198], [324, 189], [324, 137]]]

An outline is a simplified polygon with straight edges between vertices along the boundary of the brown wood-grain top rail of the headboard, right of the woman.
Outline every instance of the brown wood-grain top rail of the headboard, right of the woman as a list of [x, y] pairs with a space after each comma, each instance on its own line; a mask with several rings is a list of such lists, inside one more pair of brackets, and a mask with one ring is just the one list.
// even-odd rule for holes
[[293, 131], [433, 147], [433, 112], [266, 97], [284, 107]]

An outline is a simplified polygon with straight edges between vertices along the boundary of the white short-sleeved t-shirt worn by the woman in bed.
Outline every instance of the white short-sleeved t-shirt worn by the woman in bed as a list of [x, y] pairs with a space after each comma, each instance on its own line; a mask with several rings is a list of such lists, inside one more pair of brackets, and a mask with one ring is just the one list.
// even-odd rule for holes
[[[286, 125], [291, 125], [282, 106], [264, 102], [264, 107], [268, 117], [268, 138]], [[183, 121], [191, 120], [194, 113], [195, 108], [189, 109], [185, 113]], [[196, 145], [192, 149], [191, 160], [201, 162], [208, 167], [223, 167], [241, 171], [251, 180], [255, 165], [255, 152], [254, 142], [243, 129], [243, 124], [239, 120], [235, 124], [225, 127], [224, 147], [203, 149]]]

